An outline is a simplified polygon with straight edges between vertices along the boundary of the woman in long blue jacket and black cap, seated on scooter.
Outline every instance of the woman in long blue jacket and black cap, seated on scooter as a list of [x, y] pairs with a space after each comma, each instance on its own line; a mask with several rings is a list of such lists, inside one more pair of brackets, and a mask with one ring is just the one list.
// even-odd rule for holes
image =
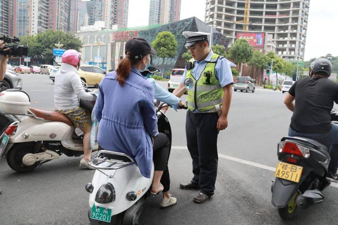
[[[157, 129], [154, 87], [140, 73], [149, 64], [150, 54], [156, 51], [139, 37], [127, 41], [125, 51], [126, 58], [116, 71], [106, 74], [99, 86], [95, 108], [99, 121], [97, 142], [106, 150], [133, 156], [144, 177], [150, 178], [154, 161], [151, 192], [159, 193], [164, 190], [160, 180], [170, 144]], [[176, 199], [170, 196], [163, 206], [175, 203]]]

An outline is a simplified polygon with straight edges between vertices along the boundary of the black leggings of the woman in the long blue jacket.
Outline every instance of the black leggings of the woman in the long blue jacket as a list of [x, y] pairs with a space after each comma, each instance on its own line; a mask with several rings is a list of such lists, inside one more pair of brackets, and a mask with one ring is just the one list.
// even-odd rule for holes
[[164, 189], [163, 192], [169, 191], [170, 189], [170, 176], [168, 170], [168, 160], [170, 154], [170, 142], [167, 135], [159, 133], [158, 136], [153, 137], [153, 161], [155, 170], [163, 171], [161, 178], [161, 184]]

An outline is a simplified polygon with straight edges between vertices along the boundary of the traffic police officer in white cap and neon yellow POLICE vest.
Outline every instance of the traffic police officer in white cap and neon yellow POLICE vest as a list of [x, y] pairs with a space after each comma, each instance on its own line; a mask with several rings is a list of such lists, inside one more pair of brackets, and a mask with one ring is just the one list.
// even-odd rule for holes
[[[186, 118], [187, 146], [192, 158], [194, 177], [180, 184], [181, 189], [200, 189], [194, 197], [198, 203], [206, 202], [214, 194], [217, 176], [217, 136], [227, 125], [233, 77], [229, 63], [209, 48], [208, 33], [183, 32], [192, 55], [187, 62], [181, 83], [174, 94], [192, 78], [195, 86], [188, 90]], [[178, 93], [178, 97], [184, 91]], [[218, 113], [217, 113], [218, 112]]]

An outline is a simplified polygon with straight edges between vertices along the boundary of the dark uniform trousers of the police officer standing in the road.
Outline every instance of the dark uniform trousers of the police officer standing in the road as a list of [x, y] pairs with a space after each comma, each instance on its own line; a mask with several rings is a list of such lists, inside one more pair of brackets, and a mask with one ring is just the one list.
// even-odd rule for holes
[[192, 158], [191, 182], [197, 183], [201, 192], [211, 196], [217, 177], [217, 113], [187, 112], [187, 146]]

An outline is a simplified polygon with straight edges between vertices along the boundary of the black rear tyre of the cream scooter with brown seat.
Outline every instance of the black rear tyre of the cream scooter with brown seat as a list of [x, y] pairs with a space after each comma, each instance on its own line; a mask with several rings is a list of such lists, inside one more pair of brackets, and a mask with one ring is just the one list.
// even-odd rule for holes
[[17, 172], [29, 172], [35, 169], [38, 166], [38, 163], [35, 163], [31, 166], [26, 166], [22, 163], [22, 158], [27, 153], [32, 153], [34, 150], [35, 143], [25, 142], [14, 144], [14, 146], [7, 153], [7, 164], [8, 166], [17, 171]]

